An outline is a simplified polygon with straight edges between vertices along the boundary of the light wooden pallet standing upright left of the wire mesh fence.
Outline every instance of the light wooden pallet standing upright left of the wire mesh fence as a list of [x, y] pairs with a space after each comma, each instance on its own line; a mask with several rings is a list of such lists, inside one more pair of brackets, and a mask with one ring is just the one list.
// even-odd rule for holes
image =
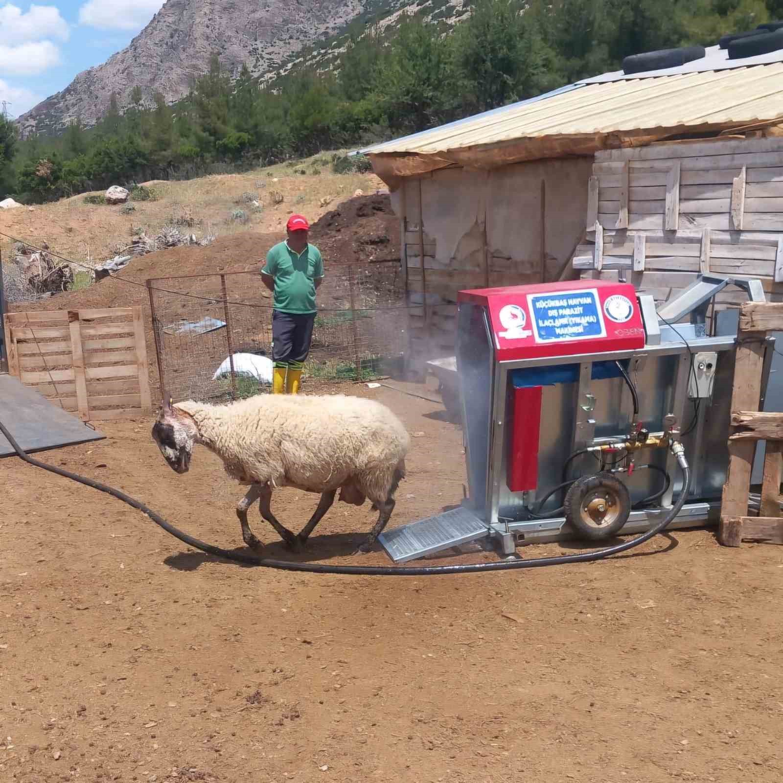
[[140, 307], [9, 312], [9, 373], [81, 420], [152, 411]]

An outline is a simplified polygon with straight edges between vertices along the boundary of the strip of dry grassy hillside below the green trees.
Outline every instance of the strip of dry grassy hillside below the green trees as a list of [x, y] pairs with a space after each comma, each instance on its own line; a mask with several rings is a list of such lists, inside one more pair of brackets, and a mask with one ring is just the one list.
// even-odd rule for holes
[[[134, 202], [135, 211], [121, 215], [121, 207], [85, 204], [88, 193], [37, 205], [30, 209], [0, 212], [0, 231], [39, 246], [47, 242], [51, 250], [79, 263], [98, 264], [114, 255], [117, 247], [143, 228], [150, 235], [176, 218], [188, 218], [192, 226], [180, 230], [200, 236], [212, 231], [218, 236], [253, 231], [280, 233], [288, 215], [301, 212], [315, 222], [335, 204], [351, 197], [356, 189], [365, 193], [384, 188], [373, 174], [335, 175], [332, 153], [321, 153], [295, 164], [277, 164], [246, 174], [213, 175], [188, 181], [146, 182], [157, 193], [155, 201]], [[312, 173], [313, 168], [320, 174]], [[305, 169], [305, 175], [296, 173]], [[273, 204], [272, 192], [283, 195], [282, 204]], [[103, 191], [100, 191], [103, 193]], [[252, 204], [236, 204], [243, 193], [258, 194], [262, 210]], [[322, 200], [327, 200], [322, 204]], [[247, 222], [232, 221], [233, 210], [247, 212]], [[9, 254], [11, 240], [0, 237], [0, 251]]]

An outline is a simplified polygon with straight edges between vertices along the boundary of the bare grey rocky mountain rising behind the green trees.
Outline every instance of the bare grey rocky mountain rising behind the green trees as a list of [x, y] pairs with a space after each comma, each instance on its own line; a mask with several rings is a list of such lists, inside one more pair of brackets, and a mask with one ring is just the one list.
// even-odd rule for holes
[[264, 74], [313, 41], [337, 34], [371, 5], [384, 3], [168, 0], [128, 47], [19, 117], [20, 129], [23, 135], [57, 132], [76, 117], [89, 126], [106, 112], [113, 93], [121, 110], [127, 107], [135, 85], [147, 102], [155, 92], [170, 102], [182, 98], [212, 52], [234, 71], [247, 63], [254, 74]]

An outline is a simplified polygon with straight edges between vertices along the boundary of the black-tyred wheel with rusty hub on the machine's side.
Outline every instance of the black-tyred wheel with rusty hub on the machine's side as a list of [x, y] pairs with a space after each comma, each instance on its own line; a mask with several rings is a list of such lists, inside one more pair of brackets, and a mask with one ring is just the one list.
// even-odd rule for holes
[[611, 473], [579, 478], [565, 495], [565, 518], [588, 541], [615, 536], [630, 512], [628, 489]]

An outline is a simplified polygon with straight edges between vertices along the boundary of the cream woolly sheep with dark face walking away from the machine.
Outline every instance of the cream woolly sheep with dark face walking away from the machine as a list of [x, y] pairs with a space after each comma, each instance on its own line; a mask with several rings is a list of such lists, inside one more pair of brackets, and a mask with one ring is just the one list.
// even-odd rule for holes
[[[200, 443], [223, 460], [231, 478], [250, 486], [236, 506], [248, 547], [262, 548], [247, 524], [256, 500], [262, 518], [291, 549], [301, 550], [340, 489], [339, 500], [361, 506], [369, 498], [378, 511], [356, 553], [372, 549], [394, 510], [410, 448], [408, 432], [386, 406], [345, 395], [258, 395], [227, 405], [166, 399], [152, 435], [169, 466], [186, 473]], [[283, 486], [321, 496], [295, 536], [270, 508], [272, 489]]]

